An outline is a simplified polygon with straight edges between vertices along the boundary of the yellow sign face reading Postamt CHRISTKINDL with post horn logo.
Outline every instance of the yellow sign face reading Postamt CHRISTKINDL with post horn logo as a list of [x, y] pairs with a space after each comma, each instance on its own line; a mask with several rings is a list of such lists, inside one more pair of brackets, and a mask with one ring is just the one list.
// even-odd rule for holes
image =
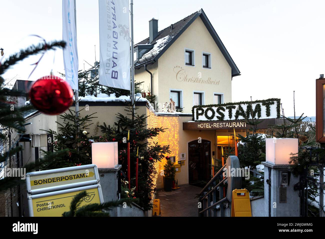
[[[87, 195], [83, 198], [80, 206], [100, 203], [98, 188], [85, 190]], [[61, 217], [62, 213], [70, 211], [70, 203], [79, 192], [62, 193], [58, 191], [56, 195], [32, 198], [34, 217]], [[46, 193], [45, 193], [46, 194]]]

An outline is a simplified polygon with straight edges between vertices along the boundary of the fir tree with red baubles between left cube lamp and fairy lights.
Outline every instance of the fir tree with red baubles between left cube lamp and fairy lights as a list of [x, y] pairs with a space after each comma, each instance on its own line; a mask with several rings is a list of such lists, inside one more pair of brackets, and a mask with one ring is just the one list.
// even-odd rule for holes
[[[137, 107], [135, 108], [138, 109]], [[153, 175], [158, 172], [155, 166], [164, 155], [170, 153], [169, 145], [161, 146], [158, 142], [149, 143], [149, 140], [164, 132], [164, 128], [147, 128], [146, 115], [132, 114], [132, 105], [125, 109], [126, 114], [118, 113], [118, 121], [114, 126], [106, 124], [100, 126], [103, 136], [99, 141], [118, 142], [119, 149], [119, 164], [122, 165], [122, 170], [127, 175], [127, 142], [130, 142], [130, 168], [131, 177], [124, 181], [131, 183], [131, 190], [125, 189], [128, 197], [136, 197], [139, 199], [139, 205], [145, 210], [149, 210], [151, 205], [152, 195], [155, 192], [155, 177]], [[129, 140], [127, 139], [129, 133]], [[137, 155], [138, 152], [138, 155]], [[138, 188], [136, 185], [136, 159], [138, 158]]]

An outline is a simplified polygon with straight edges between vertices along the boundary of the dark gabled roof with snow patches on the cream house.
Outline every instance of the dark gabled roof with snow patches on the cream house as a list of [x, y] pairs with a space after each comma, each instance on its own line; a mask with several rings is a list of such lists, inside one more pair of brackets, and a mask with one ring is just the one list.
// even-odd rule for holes
[[[240, 71], [238, 67], [236, 66], [235, 62], [232, 60], [231, 56], [229, 55], [226, 47], [220, 40], [218, 34], [215, 32], [213, 26], [211, 25], [211, 22], [205, 15], [203, 9], [200, 9], [199, 11], [187, 16], [186, 18], [172, 24], [173, 28], [171, 26], [161, 30], [158, 32], [158, 36], [153, 39], [153, 41], [156, 42], [154, 47], [145, 54], [141, 59], [138, 59], [137, 62], [135, 62], [135, 67], [139, 68], [142, 65], [145, 64], [152, 64], [155, 61], [159, 59], [159, 57], [168, 49], [169, 46], [171, 46], [176, 39], [192, 24], [194, 20], [196, 20], [198, 17], [201, 18], [203, 21], [205, 27], [208, 29], [209, 33], [213, 37], [215, 43], [219, 47], [220, 51], [224, 55], [225, 59], [227, 60], [228, 64], [231, 67], [231, 75], [236, 76], [240, 75]], [[150, 44], [149, 43], [149, 37], [144, 39], [143, 41], [137, 43], [139, 44]], [[136, 46], [135, 45], [135, 46]]]

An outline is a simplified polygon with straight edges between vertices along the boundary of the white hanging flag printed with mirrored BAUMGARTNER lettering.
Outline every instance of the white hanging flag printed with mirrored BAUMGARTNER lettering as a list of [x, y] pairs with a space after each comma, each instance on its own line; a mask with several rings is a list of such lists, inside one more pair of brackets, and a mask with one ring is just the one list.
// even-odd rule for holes
[[99, 84], [130, 90], [128, 0], [98, 0]]

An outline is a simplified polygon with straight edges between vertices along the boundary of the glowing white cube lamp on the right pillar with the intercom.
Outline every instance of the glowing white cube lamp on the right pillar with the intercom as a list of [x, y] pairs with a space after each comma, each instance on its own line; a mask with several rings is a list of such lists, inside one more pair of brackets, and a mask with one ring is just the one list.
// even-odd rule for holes
[[266, 162], [274, 165], [289, 165], [291, 153], [298, 153], [298, 139], [266, 139]]

